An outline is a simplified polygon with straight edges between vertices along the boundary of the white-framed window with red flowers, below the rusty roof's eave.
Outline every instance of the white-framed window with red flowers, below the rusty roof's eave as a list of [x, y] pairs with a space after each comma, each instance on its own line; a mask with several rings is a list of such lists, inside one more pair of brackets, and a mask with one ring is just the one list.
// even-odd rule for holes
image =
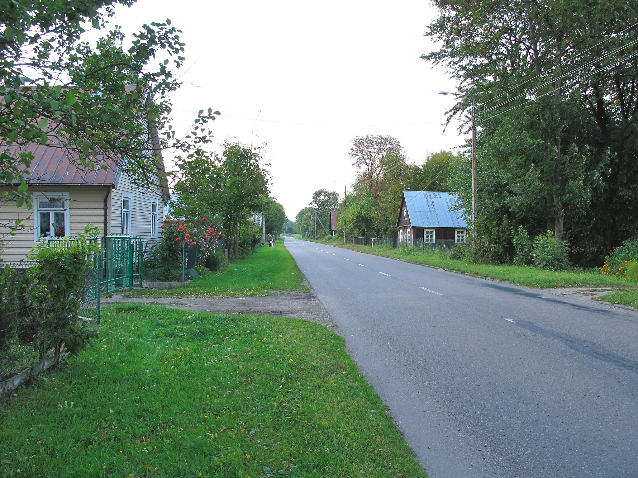
[[33, 239], [69, 235], [69, 193], [38, 192], [34, 195]]

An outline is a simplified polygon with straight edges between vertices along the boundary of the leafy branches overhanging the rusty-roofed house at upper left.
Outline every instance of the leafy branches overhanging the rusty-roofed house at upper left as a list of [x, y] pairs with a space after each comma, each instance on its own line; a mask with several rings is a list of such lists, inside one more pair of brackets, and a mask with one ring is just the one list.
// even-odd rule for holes
[[95, 47], [82, 41], [87, 28], [105, 28], [114, 6], [132, 3], [0, 0], [0, 141], [9, 146], [0, 152], [0, 183], [12, 186], [4, 201], [31, 206], [24, 175], [34, 143], [68, 150], [85, 170], [110, 162], [144, 187], [167, 184], [157, 174], [157, 132], [178, 162], [204, 153], [212, 138], [204, 125], [219, 112], [200, 110], [184, 138], [170, 125], [168, 96], [180, 85], [173, 71], [184, 62], [170, 20], [144, 24], [127, 49], [117, 26]]

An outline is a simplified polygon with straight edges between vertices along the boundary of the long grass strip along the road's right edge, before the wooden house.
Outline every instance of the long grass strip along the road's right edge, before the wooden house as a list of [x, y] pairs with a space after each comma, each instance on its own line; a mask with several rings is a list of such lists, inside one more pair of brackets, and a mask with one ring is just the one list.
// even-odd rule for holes
[[[313, 241], [321, 242], [323, 241]], [[489, 264], [473, 264], [467, 261], [457, 261], [450, 259], [440, 250], [431, 252], [421, 252], [419, 249], [389, 249], [386, 247], [346, 244], [337, 239], [330, 245], [343, 247], [345, 249], [356, 250], [357, 252], [365, 252], [366, 254], [374, 254], [375, 256], [390, 257], [391, 259], [399, 259], [414, 264], [422, 264], [424, 266], [436, 267], [443, 270], [451, 270], [455, 272], [467, 273], [477, 277], [489, 279], [507, 280], [517, 286], [540, 287], [632, 287], [633, 284], [627, 280], [619, 279], [609, 275], [587, 271], [551, 271], [538, 269], [532, 266], [493, 266]]]

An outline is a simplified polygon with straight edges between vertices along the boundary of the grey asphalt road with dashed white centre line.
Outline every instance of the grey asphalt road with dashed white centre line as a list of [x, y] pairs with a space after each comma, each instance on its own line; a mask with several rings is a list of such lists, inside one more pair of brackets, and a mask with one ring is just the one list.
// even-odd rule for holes
[[286, 246], [432, 478], [638, 477], [638, 314]]

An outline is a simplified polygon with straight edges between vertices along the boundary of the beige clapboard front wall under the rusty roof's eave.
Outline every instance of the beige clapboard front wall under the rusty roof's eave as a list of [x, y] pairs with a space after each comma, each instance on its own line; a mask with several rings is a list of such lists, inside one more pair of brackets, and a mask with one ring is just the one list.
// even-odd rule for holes
[[[4, 188], [6, 189], [6, 188]], [[0, 194], [3, 191], [0, 188]], [[39, 186], [37, 189], [29, 187], [29, 192], [68, 192], [70, 205], [70, 233], [76, 235], [84, 232], [84, 227], [93, 223], [94, 226], [104, 230], [104, 199], [107, 188], [103, 186]], [[33, 236], [33, 210], [27, 210], [25, 206], [18, 208], [15, 203], [0, 203], [0, 222], [7, 223], [20, 219], [24, 223], [25, 228], [17, 231], [15, 236], [2, 240], [2, 255], [0, 259], [3, 262], [24, 261], [29, 250], [35, 247]], [[0, 226], [3, 228], [3, 226]], [[0, 231], [4, 236], [4, 232]]]

